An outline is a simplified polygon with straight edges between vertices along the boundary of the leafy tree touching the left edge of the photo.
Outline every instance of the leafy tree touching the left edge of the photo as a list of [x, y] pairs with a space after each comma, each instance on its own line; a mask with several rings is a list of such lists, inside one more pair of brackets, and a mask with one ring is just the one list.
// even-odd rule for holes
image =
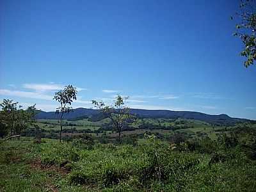
[[14, 134], [15, 120], [17, 115], [17, 104], [18, 102], [13, 102], [13, 100], [4, 99], [0, 104], [2, 107], [2, 115], [5, 124], [8, 129], [10, 129], [10, 136]]

